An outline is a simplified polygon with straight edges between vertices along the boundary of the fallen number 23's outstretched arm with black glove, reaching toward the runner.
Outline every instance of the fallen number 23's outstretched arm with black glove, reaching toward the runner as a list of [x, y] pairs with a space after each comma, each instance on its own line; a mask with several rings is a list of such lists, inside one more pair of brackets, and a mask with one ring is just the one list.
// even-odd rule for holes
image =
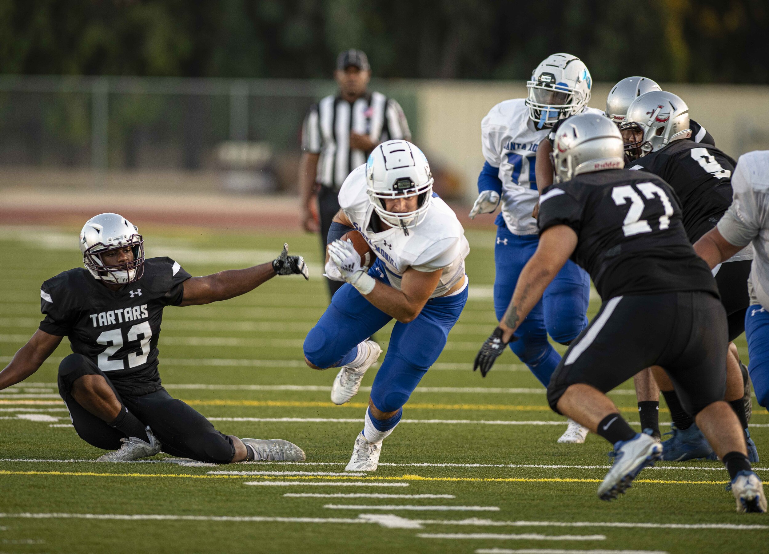
[[288, 244], [283, 245], [281, 255], [268, 262], [247, 269], [220, 271], [205, 277], [191, 277], [185, 280], [185, 293], [179, 306], [211, 304], [246, 294], [270, 280], [275, 275], [301, 275], [309, 278], [305, 258], [289, 256]]

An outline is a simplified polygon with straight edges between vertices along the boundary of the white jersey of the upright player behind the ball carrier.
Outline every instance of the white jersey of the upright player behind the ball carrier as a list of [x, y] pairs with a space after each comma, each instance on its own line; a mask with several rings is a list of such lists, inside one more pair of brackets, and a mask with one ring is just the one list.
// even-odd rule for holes
[[[594, 108], [584, 112], [603, 114]], [[502, 217], [512, 234], [538, 232], [531, 217], [539, 197], [534, 166], [539, 143], [550, 131], [536, 128], [524, 98], [500, 102], [481, 121], [481, 148], [488, 164], [499, 168]]]

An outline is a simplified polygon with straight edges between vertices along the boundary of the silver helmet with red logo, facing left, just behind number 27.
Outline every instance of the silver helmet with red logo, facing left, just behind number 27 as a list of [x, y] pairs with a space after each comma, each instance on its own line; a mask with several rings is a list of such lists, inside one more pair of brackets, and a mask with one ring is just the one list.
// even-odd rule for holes
[[689, 107], [672, 92], [647, 92], [631, 102], [620, 130], [626, 135], [628, 158], [641, 158], [672, 141], [691, 137]]

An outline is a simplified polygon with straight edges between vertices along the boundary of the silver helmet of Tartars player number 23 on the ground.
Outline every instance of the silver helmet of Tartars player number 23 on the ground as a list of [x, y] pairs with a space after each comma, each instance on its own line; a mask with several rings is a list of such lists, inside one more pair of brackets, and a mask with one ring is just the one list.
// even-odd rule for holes
[[[102, 254], [125, 247], [131, 247], [133, 260], [113, 265], [102, 261]], [[144, 240], [138, 227], [122, 215], [98, 214], [86, 221], [80, 231], [80, 251], [88, 271], [105, 283], [131, 283], [144, 273]]]

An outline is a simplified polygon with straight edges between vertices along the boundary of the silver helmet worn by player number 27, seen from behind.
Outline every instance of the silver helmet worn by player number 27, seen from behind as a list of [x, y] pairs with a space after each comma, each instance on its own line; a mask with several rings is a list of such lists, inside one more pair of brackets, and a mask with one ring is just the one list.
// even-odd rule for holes
[[582, 173], [622, 169], [622, 135], [617, 125], [603, 115], [574, 115], [558, 128], [550, 156], [557, 183]]

